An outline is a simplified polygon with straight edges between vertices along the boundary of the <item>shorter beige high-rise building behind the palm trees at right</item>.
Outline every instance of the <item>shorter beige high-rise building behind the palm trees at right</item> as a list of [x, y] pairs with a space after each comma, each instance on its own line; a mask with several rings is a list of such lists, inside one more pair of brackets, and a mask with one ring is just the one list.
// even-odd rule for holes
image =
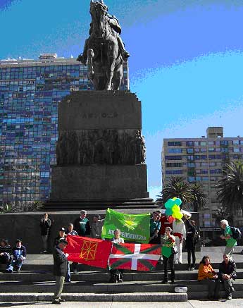
[[[200, 211], [202, 227], [216, 226], [218, 180], [223, 178], [225, 162], [243, 159], [243, 137], [224, 137], [223, 127], [209, 127], [201, 138], [164, 139], [162, 149], [162, 185], [171, 175], [188, 183], [201, 183], [207, 195], [206, 208]], [[238, 226], [243, 225], [242, 211], [237, 213]]]

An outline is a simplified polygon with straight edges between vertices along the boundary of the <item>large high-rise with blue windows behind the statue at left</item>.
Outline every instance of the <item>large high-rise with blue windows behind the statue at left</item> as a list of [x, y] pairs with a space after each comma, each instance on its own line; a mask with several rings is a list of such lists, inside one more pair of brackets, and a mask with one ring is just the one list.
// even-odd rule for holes
[[[125, 63], [121, 90], [129, 89], [127, 70]], [[0, 61], [0, 205], [49, 199], [58, 103], [80, 90], [92, 83], [74, 58]]]

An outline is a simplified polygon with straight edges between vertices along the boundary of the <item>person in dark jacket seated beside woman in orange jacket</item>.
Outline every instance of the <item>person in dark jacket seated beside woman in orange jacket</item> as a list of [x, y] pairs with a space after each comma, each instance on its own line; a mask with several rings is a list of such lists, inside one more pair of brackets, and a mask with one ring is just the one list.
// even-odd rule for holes
[[223, 282], [227, 300], [231, 300], [232, 292], [235, 291], [232, 283], [236, 279], [236, 264], [228, 254], [223, 255], [223, 262], [220, 263], [218, 276], [220, 281]]

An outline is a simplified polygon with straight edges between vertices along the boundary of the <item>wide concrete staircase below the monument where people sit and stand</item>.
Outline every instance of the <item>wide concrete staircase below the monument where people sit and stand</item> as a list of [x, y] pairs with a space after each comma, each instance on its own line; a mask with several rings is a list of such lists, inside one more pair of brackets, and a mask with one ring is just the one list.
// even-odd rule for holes
[[[213, 264], [218, 269], [219, 264]], [[234, 298], [243, 298], [243, 263], [237, 263]], [[0, 301], [50, 301], [54, 292], [51, 264], [24, 264], [20, 273], [0, 273]], [[72, 273], [72, 283], [65, 283], [63, 298], [68, 301], [163, 302], [204, 299], [207, 286], [197, 282], [197, 270], [187, 271], [187, 264], [175, 265], [175, 285], [163, 284], [163, 265], [155, 271], [126, 271], [123, 283], [108, 283], [108, 271], [80, 264]], [[4, 267], [0, 267], [4, 271]], [[175, 286], [187, 286], [187, 293], [175, 293]], [[223, 288], [221, 294], [224, 295]]]

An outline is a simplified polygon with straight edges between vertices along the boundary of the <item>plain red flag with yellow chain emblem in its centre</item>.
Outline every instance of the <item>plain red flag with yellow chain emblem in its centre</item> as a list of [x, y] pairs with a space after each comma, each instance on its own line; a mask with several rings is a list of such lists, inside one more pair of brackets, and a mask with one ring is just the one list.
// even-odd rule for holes
[[68, 235], [66, 240], [68, 245], [64, 252], [69, 254], [68, 261], [107, 268], [112, 242], [75, 235]]

